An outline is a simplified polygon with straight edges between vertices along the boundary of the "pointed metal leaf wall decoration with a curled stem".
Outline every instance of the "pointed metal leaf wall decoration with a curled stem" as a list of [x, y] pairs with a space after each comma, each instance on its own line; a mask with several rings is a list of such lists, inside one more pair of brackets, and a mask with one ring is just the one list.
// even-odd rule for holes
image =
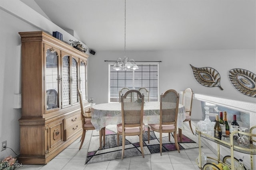
[[206, 87], [219, 87], [221, 90], [223, 88], [220, 86], [220, 74], [217, 70], [211, 67], [202, 67], [202, 68], [196, 68], [192, 66], [194, 77], [196, 80]]

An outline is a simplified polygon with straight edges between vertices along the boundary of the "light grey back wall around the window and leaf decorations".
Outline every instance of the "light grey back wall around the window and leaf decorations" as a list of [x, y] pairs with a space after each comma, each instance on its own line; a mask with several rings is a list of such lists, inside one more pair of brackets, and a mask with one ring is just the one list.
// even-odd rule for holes
[[[88, 97], [93, 97], [94, 102], [108, 102], [108, 63], [104, 60], [114, 61], [118, 57], [124, 58], [123, 56], [123, 51], [98, 51], [96, 55], [89, 57]], [[256, 72], [255, 50], [126, 51], [126, 57], [136, 61], [162, 61], [159, 63], [159, 94], [171, 88], [179, 92], [190, 87], [194, 93], [256, 102], [256, 98], [236, 90], [228, 78], [228, 72], [232, 68]], [[199, 84], [190, 64], [194, 67], [216, 69], [224, 90]]]

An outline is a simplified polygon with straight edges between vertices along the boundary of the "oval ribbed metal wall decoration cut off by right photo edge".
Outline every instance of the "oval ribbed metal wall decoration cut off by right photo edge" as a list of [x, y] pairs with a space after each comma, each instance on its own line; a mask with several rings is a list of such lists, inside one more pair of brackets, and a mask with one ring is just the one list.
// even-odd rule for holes
[[242, 68], [234, 68], [228, 73], [234, 87], [250, 97], [256, 98], [256, 75]]

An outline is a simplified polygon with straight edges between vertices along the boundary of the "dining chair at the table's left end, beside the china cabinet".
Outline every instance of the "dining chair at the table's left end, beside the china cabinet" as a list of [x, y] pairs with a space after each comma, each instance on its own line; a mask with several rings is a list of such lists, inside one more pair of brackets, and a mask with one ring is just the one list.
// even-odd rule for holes
[[[82, 117], [82, 128], [83, 128], [83, 133], [82, 133], [82, 137], [81, 137], [81, 144], [79, 147], [79, 150], [82, 148], [82, 145], [84, 143], [84, 138], [85, 138], [85, 134], [86, 131], [88, 130], [94, 130], [95, 127], [92, 125], [91, 122], [91, 111], [90, 108], [88, 111], [84, 110], [84, 102], [83, 102], [83, 95], [80, 89], [77, 89], [78, 94], [79, 94], [79, 100], [80, 100], [80, 107], [81, 107], [81, 117]], [[99, 131], [99, 136], [100, 136], [100, 150], [102, 149], [102, 135], [103, 135], [103, 146], [105, 146], [105, 127], [100, 129]]]

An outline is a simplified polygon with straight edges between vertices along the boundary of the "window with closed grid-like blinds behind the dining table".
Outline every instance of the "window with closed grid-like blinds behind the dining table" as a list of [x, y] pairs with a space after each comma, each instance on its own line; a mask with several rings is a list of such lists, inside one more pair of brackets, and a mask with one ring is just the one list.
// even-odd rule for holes
[[158, 64], [137, 64], [137, 70], [114, 70], [109, 64], [109, 97], [108, 102], [119, 102], [119, 90], [127, 87], [138, 90], [148, 89], [150, 102], [158, 101]]

